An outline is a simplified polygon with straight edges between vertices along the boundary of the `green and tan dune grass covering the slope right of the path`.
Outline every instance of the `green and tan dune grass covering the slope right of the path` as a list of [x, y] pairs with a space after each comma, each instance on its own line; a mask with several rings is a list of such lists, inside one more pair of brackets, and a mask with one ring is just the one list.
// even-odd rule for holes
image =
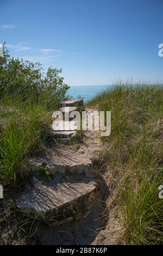
[[111, 135], [102, 138], [101, 159], [111, 184], [108, 208], [118, 207], [129, 245], [163, 243], [162, 99], [162, 86], [120, 83], [88, 102], [111, 111]]

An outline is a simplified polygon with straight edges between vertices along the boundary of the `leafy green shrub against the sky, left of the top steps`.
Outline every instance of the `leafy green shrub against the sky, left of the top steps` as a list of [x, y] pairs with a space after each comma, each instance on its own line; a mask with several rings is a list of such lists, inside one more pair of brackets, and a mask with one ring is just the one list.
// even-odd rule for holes
[[52, 109], [59, 106], [69, 88], [60, 73], [61, 70], [52, 67], [45, 72], [40, 63], [11, 58], [4, 47], [4, 57], [0, 57], [0, 97], [19, 95], [23, 101], [43, 100]]

